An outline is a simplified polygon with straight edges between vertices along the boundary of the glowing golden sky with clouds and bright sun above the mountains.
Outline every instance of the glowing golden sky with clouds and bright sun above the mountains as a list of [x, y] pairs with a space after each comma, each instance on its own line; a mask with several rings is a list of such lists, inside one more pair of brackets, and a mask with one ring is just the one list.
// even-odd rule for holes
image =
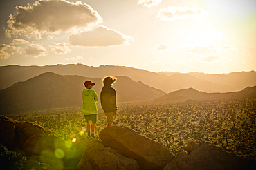
[[0, 66], [256, 70], [255, 0], [12, 0], [0, 14]]

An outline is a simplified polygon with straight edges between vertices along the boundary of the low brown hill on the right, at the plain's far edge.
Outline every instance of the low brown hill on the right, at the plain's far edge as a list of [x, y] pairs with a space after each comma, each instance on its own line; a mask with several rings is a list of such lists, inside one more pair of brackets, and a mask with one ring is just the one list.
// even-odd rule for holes
[[240, 92], [228, 92], [228, 93], [206, 93], [199, 92], [196, 89], [181, 89], [175, 92], [170, 92], [159, 98], [154, 99], [154, 102], [158, 103], [173, 103], [173, 102], [185, 102], [192, 100], [228, 100], [228, 99], [244, 99], [244, 98], [256, 98], [256, 86], [246, 87]]

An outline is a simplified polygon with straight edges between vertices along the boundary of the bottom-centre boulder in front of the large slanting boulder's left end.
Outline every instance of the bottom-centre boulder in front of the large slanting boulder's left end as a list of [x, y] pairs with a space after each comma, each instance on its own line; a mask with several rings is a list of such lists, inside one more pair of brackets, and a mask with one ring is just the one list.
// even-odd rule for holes
[[84, 147], [84, 153], [77, 170], [139, 170], [140, 165], [134, 159], [122, 156], [118, 151], [104, 147], [102, 141], [90, 139]]

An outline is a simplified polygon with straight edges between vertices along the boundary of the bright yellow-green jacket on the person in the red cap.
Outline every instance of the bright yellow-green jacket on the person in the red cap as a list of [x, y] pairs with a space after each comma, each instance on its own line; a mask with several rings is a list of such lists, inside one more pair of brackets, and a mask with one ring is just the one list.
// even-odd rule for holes
[[98, 102], [98, 95], [93, 89], [84, 89], [82, 91], [82, 114], [98, 114], [96, 103]]

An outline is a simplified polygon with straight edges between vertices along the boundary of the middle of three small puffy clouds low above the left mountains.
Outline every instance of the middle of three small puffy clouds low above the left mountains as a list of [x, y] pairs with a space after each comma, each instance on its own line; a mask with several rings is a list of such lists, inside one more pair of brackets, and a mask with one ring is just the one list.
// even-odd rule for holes
[[39, 56], [46, 56], [47, 50], [42, 45], [30, 44], [25, 49], [24, 54], [29, 57], [37, 58]]

